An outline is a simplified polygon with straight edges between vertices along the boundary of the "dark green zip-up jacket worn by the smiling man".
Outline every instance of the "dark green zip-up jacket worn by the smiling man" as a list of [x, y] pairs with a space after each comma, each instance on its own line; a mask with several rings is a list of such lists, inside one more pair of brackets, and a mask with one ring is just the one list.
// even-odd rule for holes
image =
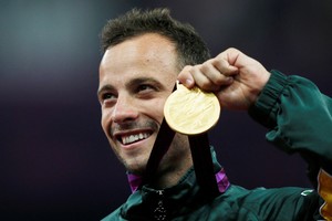
[[[332, 175], [332, 99], [305, 78], [271, 73], [249, 114], [269, 128], [268, 141], [287, 152], [300, 152], [308, 160], [309, 176], [320, 187], [315, 181], [318, 172], [324, 170]], [[214, 164], [216, 171], [222, 170], [215, 155]], [[319, 193], [292, 187], [247, 190], [225, 185], [225, 190], [210, 200], [199, 191], [195, 171], [190, 169], [175, 187], [138, 188], [103, 221], [157, 220], [154, 217], [160, 211], [167, 214], [165, 220], [320, 220], [319, 209], [324, 199]]]

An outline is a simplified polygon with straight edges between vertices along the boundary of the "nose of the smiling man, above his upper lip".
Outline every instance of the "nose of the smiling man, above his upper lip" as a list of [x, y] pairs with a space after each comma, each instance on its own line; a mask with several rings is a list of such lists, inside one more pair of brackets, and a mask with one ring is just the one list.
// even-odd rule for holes
[[114, 123], [121, 124], [138, 117], [137, 107], [135, 107], [132, 98], [118, 97], [113, 107], [112, 119]]

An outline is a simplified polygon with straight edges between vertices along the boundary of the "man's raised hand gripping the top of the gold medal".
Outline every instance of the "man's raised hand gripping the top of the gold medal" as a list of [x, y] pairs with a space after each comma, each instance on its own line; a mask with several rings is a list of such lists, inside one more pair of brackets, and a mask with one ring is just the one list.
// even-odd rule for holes
[[221, 107], [248, 109], [267, 84], [270, 73], [256, 60], [236, 49], [195, 66], [185, 66], [178, 81], [186, 87], [214, 92]]

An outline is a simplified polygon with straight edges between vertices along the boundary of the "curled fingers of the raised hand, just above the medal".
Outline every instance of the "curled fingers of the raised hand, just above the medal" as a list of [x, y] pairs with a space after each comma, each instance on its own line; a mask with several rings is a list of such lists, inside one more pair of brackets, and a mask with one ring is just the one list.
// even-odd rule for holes
[[237, 72], [237, 67], [219, 56], [199, 65], [186, 66], [178, 75], [178, 81], [188, 88], [197, 85], [205, 91], [219, 91], [221, 86], [232, 83], [232, 75]]

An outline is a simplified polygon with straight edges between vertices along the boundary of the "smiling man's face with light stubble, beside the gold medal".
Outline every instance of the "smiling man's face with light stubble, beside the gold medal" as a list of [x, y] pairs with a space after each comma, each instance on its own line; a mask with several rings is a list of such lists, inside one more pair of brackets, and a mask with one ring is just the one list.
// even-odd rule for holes
[[[142, 173], [156, 140], [164, 103], [173, 91], [176, 51], [169, 40], [144, 34], [110, 48], [100, 65], [102, 127], [128, 171]], [[163, 158], [165, 170], [189, 155], [186, 136], [176, 135]], [[162, 169], [163, 169], [162, 167]]]

